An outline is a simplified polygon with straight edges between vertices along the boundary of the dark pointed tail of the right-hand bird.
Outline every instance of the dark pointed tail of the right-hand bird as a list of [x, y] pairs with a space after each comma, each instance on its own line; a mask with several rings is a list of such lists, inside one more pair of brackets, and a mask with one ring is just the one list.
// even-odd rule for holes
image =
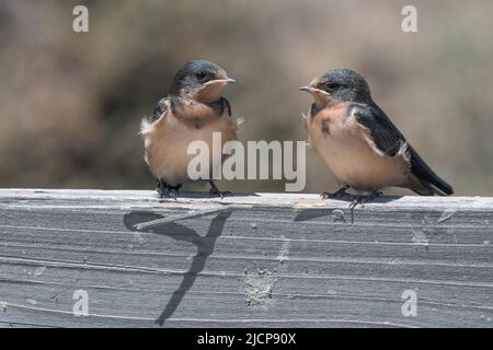
[[454, 188], [440, 178], [425, 163], [412, 147], [411, 152], [411, 175], [409, 187], [422, 196], [448, 196], [454, 194]]

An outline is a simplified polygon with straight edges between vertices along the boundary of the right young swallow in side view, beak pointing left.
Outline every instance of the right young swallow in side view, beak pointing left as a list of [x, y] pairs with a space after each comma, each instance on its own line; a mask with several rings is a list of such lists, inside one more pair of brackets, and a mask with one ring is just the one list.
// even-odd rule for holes
[[390, 186], [422, 196], [454, 192], [372, 101], [358, 73], [331, 70], [300, 90], [314, 100], [305, 117], [308, 142], [342, 185], [334, 194], [323, 192], [323, 198], [344, 196], [348, 188], [381, 195]]

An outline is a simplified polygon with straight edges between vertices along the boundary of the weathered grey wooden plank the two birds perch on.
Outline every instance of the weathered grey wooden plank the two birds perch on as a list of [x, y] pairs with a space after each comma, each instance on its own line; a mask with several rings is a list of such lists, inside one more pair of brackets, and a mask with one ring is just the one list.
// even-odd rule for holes
[[353, 223], [347, 205], [0, 189], [0, 327], [492, 327], [493, 198], [386, 197]]

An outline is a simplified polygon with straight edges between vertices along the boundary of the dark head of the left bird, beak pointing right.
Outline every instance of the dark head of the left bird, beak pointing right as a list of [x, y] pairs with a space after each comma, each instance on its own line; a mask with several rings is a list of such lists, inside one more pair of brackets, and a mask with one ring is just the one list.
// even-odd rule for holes
[[221, 89], [230, 82], [234, 80], [216, 63], [203, 59], [191, 60], [174, 75], [170, 95], [214, 102], [220, 97]]

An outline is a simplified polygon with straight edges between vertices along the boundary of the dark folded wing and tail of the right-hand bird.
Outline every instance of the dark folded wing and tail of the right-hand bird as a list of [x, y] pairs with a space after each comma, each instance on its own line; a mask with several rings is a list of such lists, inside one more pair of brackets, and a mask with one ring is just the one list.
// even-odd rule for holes
[[435, 188], [431, 188], [432, 194], [454, 194], [452, 187], [426, 164], [412, 145], [408, 144], [408, 141], [399, 129], [378, 106], [357, 105], [353, 109], [353, 115], [359, 124], [368, 129], [372, 141], [380, 152], [388, 156], [394, 156], [398, 153], [405, 152], [411, 161], [412, 175], [417, 177], [425, 187], [433, 185], [439, 189], [437, 191]]

